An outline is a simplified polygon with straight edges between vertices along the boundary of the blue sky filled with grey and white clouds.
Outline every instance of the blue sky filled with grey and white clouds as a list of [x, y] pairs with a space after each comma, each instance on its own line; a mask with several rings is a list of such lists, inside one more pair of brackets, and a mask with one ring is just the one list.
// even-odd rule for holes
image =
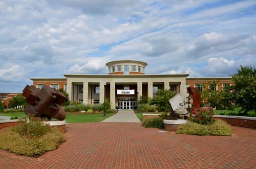
[[0, 92], [21, 92], [29, 78], [108, 74], [114, 60], [189, 77], [255, 67], [256, 1], [0, 1]]

